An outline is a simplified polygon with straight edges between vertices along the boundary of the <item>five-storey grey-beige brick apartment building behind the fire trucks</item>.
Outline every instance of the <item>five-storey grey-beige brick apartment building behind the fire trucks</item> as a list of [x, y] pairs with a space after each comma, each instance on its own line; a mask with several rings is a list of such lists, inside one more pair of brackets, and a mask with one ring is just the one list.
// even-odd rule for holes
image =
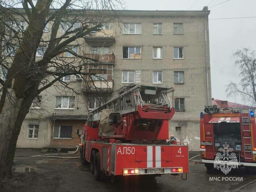
[[[169, 122], [169, 133], [181, 142], [188, 142], [190, 150], [199, 149], [199, 115], [205, 105], [211, 104], [210, 11], [204, 7], [196, 11], [120, 10], [118, 13], [124, 24], [106, 23], [104, 33], [97, 32], [93, 38], [81, 40], [83, 50], [76, 50], [100, 57], [98, 75], [107, 79], [106, 82], [93, 79], [101, 89], [100, 94], [91, 86], [91, 79], [85, 81], [72, 75], [63, 80], [79, 94], [55, 86], [48, 88], [40, 94], [41, 103], [35, 100], [26, 116], [18, 148], [74, 147], [79, 142], [76, 130], [83, 128], [88, 111], [98, 106], [97, 98], [111, 97], [112, 92], [129, 83], [141, 83], [175, 88], [176, 113]], [[59, 33], [63, 30], [60, 28]], [[70, 55], [66, 53], [63, 57]], [[93, 65], [85, 68], [95, 70]]]

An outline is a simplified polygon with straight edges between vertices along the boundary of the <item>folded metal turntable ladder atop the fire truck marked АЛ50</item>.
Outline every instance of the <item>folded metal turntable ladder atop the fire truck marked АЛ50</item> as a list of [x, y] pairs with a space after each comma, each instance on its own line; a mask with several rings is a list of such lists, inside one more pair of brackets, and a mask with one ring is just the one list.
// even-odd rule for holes
[[117, 92], [118, 96], [89, 112], [88, 121], [99, 121], [104, 109], [110, 109], [113, 113], [122, 115], [137, 111], [138, 105], [142, 106], [145, 112], [169, 113], [172, 105], [167, 93], [172, 92], [172, 101], [174, 101], [174, 88], [131, 84], [123, 86]]

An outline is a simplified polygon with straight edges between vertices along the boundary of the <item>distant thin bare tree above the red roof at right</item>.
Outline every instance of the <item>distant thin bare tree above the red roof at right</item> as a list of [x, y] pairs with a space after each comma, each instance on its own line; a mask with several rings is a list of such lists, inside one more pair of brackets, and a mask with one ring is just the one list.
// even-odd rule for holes
[[241, 95], [252, 105], [256, 104], [256, 55], [250, 48], [238, 49], [233, 57], [236, 58], [235, 65], [238, 65], [241, 72], [239, 84], [231, 82], [227, 85], [227, 96]]

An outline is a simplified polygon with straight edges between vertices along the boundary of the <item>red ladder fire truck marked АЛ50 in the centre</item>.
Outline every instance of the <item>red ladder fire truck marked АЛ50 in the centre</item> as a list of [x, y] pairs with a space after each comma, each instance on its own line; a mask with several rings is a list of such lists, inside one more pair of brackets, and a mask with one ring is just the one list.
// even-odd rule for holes
[[89, 113], [81, 135], [81, 162], [101, 175], [188, 173], [188, 146], [170, 143], [168, 120], [173, 88], [132, 84]]

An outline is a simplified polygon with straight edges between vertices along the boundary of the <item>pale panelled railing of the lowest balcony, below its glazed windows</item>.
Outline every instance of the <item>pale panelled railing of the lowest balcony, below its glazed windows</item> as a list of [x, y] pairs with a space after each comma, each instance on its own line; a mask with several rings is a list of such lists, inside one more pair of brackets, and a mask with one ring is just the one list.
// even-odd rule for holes
[[82, 92], [93, 91], [113, 91], [112, 80], [94, 80], [94, 81], [82, 81]]

